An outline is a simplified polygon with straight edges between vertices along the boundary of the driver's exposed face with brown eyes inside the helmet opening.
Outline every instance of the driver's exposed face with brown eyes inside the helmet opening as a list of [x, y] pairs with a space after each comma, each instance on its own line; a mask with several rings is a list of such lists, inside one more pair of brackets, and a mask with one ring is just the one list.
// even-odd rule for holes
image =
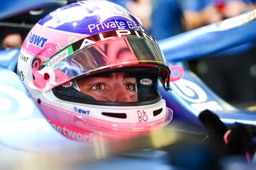
[[82, 93], [105, 102], [138, 102], [136, 78], [128, 73], [104, 73], [77, 80]]

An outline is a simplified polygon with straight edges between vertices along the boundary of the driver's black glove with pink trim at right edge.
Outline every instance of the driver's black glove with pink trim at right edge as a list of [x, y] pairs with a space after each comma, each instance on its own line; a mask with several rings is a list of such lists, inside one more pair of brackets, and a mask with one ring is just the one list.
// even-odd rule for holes
[[214, 144], [216, 150], [225, 155], [243, 155], [250, 162], [254, 153], [252, 137], [255, 136], [256, 127], [242, 123], [234, 123], [229, 129], [209, 110], [199, 114], [199, 120], [204, 124], [209, 142]]

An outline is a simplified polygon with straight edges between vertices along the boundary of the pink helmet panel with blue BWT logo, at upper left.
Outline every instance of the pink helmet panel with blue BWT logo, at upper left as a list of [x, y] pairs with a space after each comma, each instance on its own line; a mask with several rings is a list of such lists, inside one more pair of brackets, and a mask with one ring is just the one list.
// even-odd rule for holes
[[67, 47], [71, 43], [80, 40], [86, 35], [58, 31], [49, 27], [36, 24], [22, 44], [22, 49], [32, 56], [48, 60], [56, 52]]

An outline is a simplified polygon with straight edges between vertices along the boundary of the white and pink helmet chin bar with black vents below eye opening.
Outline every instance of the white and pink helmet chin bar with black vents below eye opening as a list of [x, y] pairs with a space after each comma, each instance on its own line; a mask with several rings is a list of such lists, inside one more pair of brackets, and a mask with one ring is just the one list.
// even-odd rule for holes
[[164, 100], [151, 105], [130, 107], [68, 105], [62, 109], [56, 107], [49, 112], [51, 106], [40, 104], [43, 110], [48, 110], [45, 116], [51, 121], [50, 123], [53, 123], [55, 127], [65, 128], [63, 135], [70, 135], [72, 131], [73, 134], [76, 132], [77, 134], [100, 135], [107, 139], [124, 139], [160, 129], [168, 124], [173, 116], [172, 110], [166, 107]]

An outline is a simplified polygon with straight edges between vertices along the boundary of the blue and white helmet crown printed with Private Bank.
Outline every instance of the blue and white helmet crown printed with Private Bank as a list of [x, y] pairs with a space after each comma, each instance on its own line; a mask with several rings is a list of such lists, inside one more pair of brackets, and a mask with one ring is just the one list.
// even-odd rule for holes
[[[120, 10], [120, 12], [115, 10]], [[74, 11], [77, 12], [77, 15], [72, 15]], [[140, 22], [121, 6], [109, 4], [109, 8], [105, 8], [105, 6], [90, 6], [83, 2], [58, 8], [41, 19], [38, 24], [51, 27], [52, 29], [86, 35], [93, 35], [113, 29], [145, 31]]]

